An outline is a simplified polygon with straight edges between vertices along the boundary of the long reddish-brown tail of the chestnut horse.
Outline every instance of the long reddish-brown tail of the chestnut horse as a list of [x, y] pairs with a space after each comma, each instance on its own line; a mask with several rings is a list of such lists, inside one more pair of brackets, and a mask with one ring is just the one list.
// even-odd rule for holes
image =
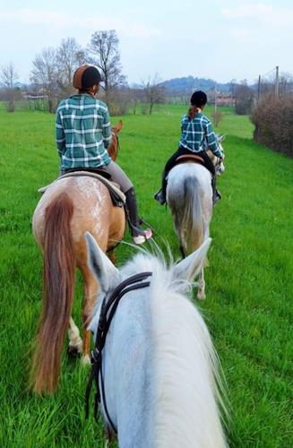
[[70, 222], [73, 202], [59, 194], [45, 211], [43, 307], [31, 370], [36, 393], [54, 392], [73, 302], [75, 255]]

